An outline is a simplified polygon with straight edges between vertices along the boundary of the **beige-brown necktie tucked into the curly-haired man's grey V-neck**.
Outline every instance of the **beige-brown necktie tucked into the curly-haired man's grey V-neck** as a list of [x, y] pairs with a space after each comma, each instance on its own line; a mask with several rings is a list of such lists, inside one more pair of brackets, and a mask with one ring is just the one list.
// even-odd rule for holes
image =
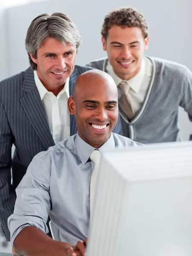
[[129, 92], [130, 86], [129, 86], [129, 84], [127, 84], [124, 81], [120, 82], [119, 86], [122, 91], [122, 96], [119, 99], [120, 108], [123, 110], [123, 112], [129, 118], [129, 120], [131, 120], [135, 116], [135, 112], [134, 112], [134, 110], [132, 108], [132, 104], [131, 104], [131, 95]]

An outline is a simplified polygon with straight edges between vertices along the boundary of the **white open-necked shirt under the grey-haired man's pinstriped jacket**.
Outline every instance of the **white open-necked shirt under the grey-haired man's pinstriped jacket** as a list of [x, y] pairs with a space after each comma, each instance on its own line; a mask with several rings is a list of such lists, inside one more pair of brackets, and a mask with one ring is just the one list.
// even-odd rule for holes
[[55, 96], [43, 86], [37, 75], [37, 71], [34, 70], [34, 81], [39, 91], [55, 144], [70, 136], [70, 114], [67, 106], [69, 99], [69, 79], [66, 80], [65, 86], [60, 93]]

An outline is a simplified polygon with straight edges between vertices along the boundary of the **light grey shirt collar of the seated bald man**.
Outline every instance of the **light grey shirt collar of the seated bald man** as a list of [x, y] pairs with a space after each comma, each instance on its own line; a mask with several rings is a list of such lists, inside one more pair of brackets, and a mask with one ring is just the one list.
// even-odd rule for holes
[[104, 151], [112, 150], [115, 148], [115, 141], [113, 138], [113, 134], [111, 134], [111, 136], [109, 137], [109, 140], [106, 143], [104, 143], [102, 146], [100, 146], [100, 148], [94, 148], [88, 143], [86, 143], [84, 140], [82, 140], [77, 133], [77, 136], [75, 138], [75, 145], [76, 145], [80, 160], [84, 165], [88, 161], [90, 155], [95, 149], [98, 149], [101, 153], [103, 153]]

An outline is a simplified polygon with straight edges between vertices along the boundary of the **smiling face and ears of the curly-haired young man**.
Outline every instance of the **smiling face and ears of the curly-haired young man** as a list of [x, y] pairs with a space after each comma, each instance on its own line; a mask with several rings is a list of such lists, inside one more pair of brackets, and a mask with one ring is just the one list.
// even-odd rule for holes
[[128, 80], [139, 72], [148, 41], [149, 37], [144, 39], [139, 27], [109, 29], [107, 39], [102, 38], [103, 50], [107, 51], [109, 63], [118, 77]]

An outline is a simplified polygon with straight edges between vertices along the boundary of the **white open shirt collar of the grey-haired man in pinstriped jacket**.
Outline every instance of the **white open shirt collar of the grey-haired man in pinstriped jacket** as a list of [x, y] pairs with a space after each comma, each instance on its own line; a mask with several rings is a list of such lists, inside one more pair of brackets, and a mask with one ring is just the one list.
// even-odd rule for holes
[[[37, 90], [39, 92], [39, 95], [40, 95], [40, 99], [43, 100], [43, 97], [45, 96], [46, 93], [48, 93], [49, 91], [46, 89], [46, 87], [42, 84], [42, 82], [40, 81], [38, 75], [37, 75], [37, 70], [34, 70], [33, 71], [34, 73], [34, 81], [35, 81], [35, 84], [37, 86]], [[67, 94], [67, 97], [69, 98], [69, 79], [70, 77], [68, 77], [66, 79], [66, 82], [65, 82], [65, 86], [63, 87], [63, 89], [60, 91], [60, 93], [57, 95], [60, 96], [61, 94], [63, 94], [65, 91], [66, 91], [66, 94]]]

